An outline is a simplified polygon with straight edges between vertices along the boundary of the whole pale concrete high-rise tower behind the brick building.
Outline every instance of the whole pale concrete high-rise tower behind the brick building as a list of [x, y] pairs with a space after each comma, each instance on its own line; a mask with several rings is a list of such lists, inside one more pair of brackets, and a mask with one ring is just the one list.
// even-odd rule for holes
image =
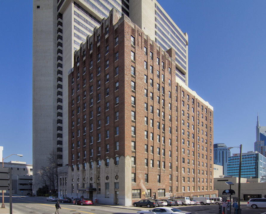
[[[57, 152], [58, 166], [68, 164], [68, 74], [73, 53], [109, 16], [132, 19], [164, 51], [175, 52], [175, 73], [188, 85], [188, 36], [157, 1], [33, 0], [33, 176]], [[62, 169], [64, 171], [64, 169]]]

